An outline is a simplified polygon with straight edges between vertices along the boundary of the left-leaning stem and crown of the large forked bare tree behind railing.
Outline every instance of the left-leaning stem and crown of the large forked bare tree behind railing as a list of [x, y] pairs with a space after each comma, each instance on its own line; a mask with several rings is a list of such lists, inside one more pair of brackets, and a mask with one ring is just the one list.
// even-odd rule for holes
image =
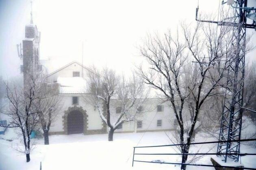
[[[186, 46], [180, 41], [178, 32], [174, 38], [167, 32], [161, 38], [157, 34], [148, 36], [144, 46], [140, 47], [141, 56], [148, 62], [149, 69], [138, 67], [137, 73], [144, 82], [161, 92], [160, 98], [168, 102], [173, 108], [175, 119], [179, 127], [178, 141], [184, 143], [184, 115], [183, 109], [186, 98], [189, 96], [185, 76], [187, 64]], [[183, 152], [183, 148], [180, 149]]]

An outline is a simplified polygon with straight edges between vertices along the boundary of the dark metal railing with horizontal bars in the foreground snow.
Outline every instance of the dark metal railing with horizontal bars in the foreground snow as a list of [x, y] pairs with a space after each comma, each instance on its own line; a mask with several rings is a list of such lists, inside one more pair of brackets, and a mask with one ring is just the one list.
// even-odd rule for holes
[[[232, 140], [232, 142], [247, 142], [247, 141], [256, 141], [254, 139], [241, 139], [241, 140]], [[196, 142], [196, 143], [189, 143], [189, 144], [167, 144], [167, 145], [157, 145], [157, 146], [144, 146], [144, 147], [133, 147], [133, 157], [132, 157], [132, 166], [134, 162], [145, 162], [145, 163], [155, 163], [155, 164], [174, 164], [174, 165], [187, 165], [187, 166], [208, 166], [208, 167], [219, 167], [219, 168], [241, 168], [247, 170], [256, 170], [256, 168], [249, 168], [249, 167], [238, 167], [238, 166], [220, 166], [220, 165], [207, 165], [207, 164], [187, 164], [184, 163], [184, 155], [217, 155], [216, 153], [185, 153], [185, 149], [183, 149], [183, 153], [135, 153], [136, 148], [152, 148], [152, 147], [174, 147], [174, 146], [183, 146], [186, 148], [187, 145], [196, 145], [196, 144], [213, 144], [213, 143], [223, 143], [223, 142], [231, 142], [230, 140], [226, 141], [214, 141], [214, 142]], [[222, 153], [221, 155], [234, 155], [234, 153]], [[135, 155], [182, 155], [181, 163], [178, 162], [162, 162], [162, 161], [141, 161], [135, 160]], [[236, 153], [236, 155], [256, 155], [256, 153]]]

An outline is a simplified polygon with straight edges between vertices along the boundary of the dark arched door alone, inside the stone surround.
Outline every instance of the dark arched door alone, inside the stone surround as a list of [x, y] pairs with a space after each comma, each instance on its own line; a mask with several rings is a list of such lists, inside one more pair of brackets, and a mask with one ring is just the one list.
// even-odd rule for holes
[[67, 134], [84, 132], [84, 115], [79, 110], [73, 110], [67, 115]]

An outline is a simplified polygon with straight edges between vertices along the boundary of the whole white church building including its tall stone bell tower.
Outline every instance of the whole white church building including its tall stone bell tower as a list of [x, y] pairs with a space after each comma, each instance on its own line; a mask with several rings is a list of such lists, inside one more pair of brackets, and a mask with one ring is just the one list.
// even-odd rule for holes
[[[100, 118], [98, 109], [84, 100], [85, 77], [88, 69], [78, 62], [71, 62], [57, 70], [54, 66], [64, 61], [54, 61], [54, 57], [42, 60], [39, 57], [40, 32], [37, 26], [31, 23], [25, 27], [25, 39], [23, 40], [23, 55], [21, 71], [24, 80], [28, 67], [33, 64], [39, 70], [45, 70], [48, 75], [48, 88], [58, 88], [61, 96], [62, 108], [58, 112], [56, 120], [52, 122], [50, 134], [104, 134], [107, 133], [106, 124]], [[39, 58], [41, 58], [39, 62]], [[25, 81], [24, 81], [25, 82]], [[114, 101], [114, 100], [113, 100]], [[111, 121], [118, 117], [119, 108], [114, 104], [111, 106]], [[156, 99], [146, 102], [150, 108], [139, 113], [135, 121], [130, 121], [119, 126], [115, 132], [145, 132], [174, 130], [173, 110], [167, 105], [159, 104]], [[103, 107], [102, 107], [103, 109]], [[136, 111], [136, 110], [135, 110]]]

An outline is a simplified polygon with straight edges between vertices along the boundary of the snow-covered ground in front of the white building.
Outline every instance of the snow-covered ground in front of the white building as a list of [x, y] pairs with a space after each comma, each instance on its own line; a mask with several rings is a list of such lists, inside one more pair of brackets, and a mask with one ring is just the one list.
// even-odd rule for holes
[[[50, 136], [50, 145], [43, 145], [43, 139], [36, 141], [35, 149], [32, 151], [31, 161], [26, 163], [25, 155], [20, 155], [13, 149], [19, 140], [13, 138], [13, 130], [7, 130], [6, 135], [0, 138], [0, 170], [39, 170], [42, 162], [42, 170], [84, 170], [84, 169], [105, 169], [105, 170], [179, 170], [179, 166], [169, 164], [150, 164], [135, 162], [132, 167], [132, 153], [134, 146], [170, 144], [164, 132], [114, 134], [114, 141], [107, 141], [107, 134], [102, 135], [54, 135]], [[12, 142], [5, 139], [13, 139]], [[139, 142], [139, 140], [141, 141]], [[198, 136], [198, 141], [213, 141], [213, 138]], [[139, 142], [139, 143], [138, 143]], [[209, 151], [215, 145], [196, 146], [192, 151]], [[141, 148], [137, 153], [174, 153], [176, 148], [158, 147]], [[242, 145], [243, 153], [256, 153], [256, 149]], [[241, 157], [244, 166], [256, 168], [254, 156]], [[135, 155], [136, 160], [145, 161], [180, 161], [180, 157], [169, 155]], [[197, 163], [211, 164], [210, 156], [204, 156]], [[214, 170], [212, 167], [189, 166], [187, 170]]]

